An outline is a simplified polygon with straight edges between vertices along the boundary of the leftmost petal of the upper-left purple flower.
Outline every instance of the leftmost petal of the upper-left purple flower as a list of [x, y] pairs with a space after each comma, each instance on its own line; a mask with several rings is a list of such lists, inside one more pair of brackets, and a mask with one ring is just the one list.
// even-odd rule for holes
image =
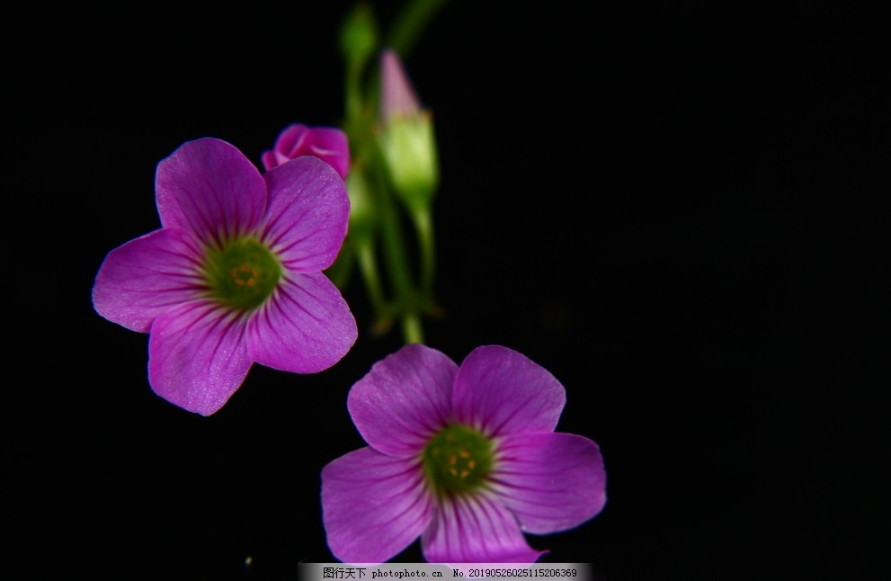
[[199, 256], [194, 239], [180, 228], [156, 230], [115, 248], [96, 274], [96, 312], [147, 333], [161, 313], [195, 298]]

